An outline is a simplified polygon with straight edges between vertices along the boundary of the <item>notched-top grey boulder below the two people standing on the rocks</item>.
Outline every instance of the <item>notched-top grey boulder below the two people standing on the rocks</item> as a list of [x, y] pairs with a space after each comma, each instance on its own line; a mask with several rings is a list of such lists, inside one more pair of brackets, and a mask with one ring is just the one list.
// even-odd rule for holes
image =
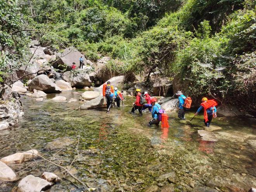
[[92, 85], [89, 75], [82, 70], [76, 76], [73, 76], [70, 71], [67, 71], [62, 75], [62, 79], [76, 88], [83, 88], [84, 86], [90, 87]]

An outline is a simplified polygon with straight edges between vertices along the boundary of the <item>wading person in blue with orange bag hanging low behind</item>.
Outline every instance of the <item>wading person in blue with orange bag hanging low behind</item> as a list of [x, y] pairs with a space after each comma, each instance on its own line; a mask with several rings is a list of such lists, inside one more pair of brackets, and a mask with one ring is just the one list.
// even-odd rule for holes
[[160, 121], [162, 121], [162, 127], [168, 128], [169, 123], [168, 123], [168, 115], [165, 113], [165, 111], [161, 108], [161, 106], [157, 103], [156, 97], [153, 97], [151, 99], [151, 104], [152, 104], [152, 118], [149, 121], [148, 126], [151, 125], [156, 125], [158, 126]]

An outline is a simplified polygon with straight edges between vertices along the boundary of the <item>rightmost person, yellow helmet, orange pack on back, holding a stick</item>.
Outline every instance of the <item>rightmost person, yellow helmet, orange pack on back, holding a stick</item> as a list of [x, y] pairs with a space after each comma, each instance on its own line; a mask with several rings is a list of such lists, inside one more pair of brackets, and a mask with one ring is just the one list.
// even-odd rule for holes
[[217, 109], [215, 106], [217, 106], [217, 102], [214, 100], [208, 100], [206, 97], [202, 98], [201, 106], [197, 109], [197, 112], [195, 115], [198, 115], [198, 113], [204, 108], [204, 125], [209, 127], [211, 124], [211, 121], [214, 118], [217, 117], [216, 112]]

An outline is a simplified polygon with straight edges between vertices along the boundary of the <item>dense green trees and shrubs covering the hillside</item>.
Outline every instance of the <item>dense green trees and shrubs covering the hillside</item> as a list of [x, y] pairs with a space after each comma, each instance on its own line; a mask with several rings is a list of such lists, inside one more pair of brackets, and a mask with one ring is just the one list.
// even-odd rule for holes
[[0, 0], [2, 80], [8, 61], [26, 61], [30, 39], [110, 56], [107, 70], [129, 80], [175, 77], [187, 95], [256, 112], [253, 0]]

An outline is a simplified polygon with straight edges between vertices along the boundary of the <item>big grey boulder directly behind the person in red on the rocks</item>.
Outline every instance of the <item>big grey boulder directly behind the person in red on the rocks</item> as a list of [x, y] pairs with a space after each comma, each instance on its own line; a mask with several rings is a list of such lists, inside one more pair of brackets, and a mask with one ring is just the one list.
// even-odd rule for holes
[[[64, 51], [60, 54], [58, 53], [58, 60], [56, 62], [57, 65], [66, 64], [69, 69], [71, 69], [72, 63], [76, 63], [76, 69], [79, 69], [79, 58], [81, 53], [76, 50], [74, 47], [68, 47], [64, 49]], [[86, 63], [86, 60], [85, 60]], [[55, 67], [58, 68], [58, 67]]]

